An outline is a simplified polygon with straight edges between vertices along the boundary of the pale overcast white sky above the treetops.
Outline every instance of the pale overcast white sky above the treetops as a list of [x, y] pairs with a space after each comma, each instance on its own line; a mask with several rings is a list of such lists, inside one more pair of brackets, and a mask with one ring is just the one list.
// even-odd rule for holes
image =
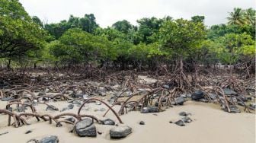
[[30, 16], [47, 24], [69, 19], [70, 14], [94, 14], [101, 27], [127, 20], [136, 25], [142, 17], [183, 17], [204, 15], [205, 24], [226, 23], [233, 8], [255, 8], [254, 0], [20, 0]]

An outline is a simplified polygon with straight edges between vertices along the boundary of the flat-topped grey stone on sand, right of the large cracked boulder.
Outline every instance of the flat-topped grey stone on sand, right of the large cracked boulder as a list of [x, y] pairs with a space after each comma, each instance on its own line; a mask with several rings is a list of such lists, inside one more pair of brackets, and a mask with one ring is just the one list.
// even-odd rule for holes
[[130, 126], [117, 126], [110, 129], [110, 138], [125, 138], [132, 133]]

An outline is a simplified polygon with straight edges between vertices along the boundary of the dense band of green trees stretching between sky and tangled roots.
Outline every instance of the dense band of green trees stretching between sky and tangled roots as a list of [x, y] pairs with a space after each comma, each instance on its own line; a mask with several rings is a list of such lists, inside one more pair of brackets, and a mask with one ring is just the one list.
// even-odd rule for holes
[[0, 62], [7, 68], [101, 68], [197, 71], [199, 66], [255, 69], [255, 10], [234, 8], [228, 24], [206, 27], [191, 20], [144, 17], [138, 25], [117, 21], [101, 28], [94, 14], [57, 24], [30, 17], [18, 0], [0, 2]]

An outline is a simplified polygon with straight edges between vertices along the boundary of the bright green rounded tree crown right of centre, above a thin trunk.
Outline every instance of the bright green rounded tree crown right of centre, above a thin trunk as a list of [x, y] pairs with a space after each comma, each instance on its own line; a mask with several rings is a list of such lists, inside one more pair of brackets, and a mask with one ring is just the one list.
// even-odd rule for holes
[[186, 57], [205, 36], [206, 30], [202, 23], [183, 19], [165, 21], [159, 33], [163, 49], [176, 57]]

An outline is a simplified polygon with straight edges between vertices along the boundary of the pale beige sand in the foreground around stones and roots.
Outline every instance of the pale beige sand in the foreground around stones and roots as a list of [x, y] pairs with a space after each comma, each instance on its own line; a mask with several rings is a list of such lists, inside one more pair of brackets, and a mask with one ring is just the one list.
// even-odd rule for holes
[[[68, 106], [66, 102], [50, 103], [60, 110], [63, 107]], [[0, 102], [0, 107], [5, 108], [6, 103]], [[59, 114], [59, 111], [50, 111], [46, 109], [46, 106], [35, 106], [38, 113], [49, 113], [52, 115]], [[85, 106], [88, 110], [82, 110], [82, 113], [97, 116], [99, 119], [114, 119], [118, 123], [113, 113], [108, 113], [106, 117], [103, 117], [104, 112], [97, 111], [104, 108], [104, 105], [96, 105], [95, 103], [89, 103]], [[120, 106], [117, 106], [115, 110], [118, 110]], [[67, 110], [65, 112], [77, 113], [78, 106], [74, 106], [74, 109]], [[177, 126], [170, 121], [177, 121], [181, 119], [178, 113], [185, 111], [191, 113], [191, 119], [193, 122], [187, 123], [186, 126]], [[64, 112], [63, 112], [64, 113]], [[120, 116], [125, 125], [133, 128], [133, 133], [126, 138], [112, 140], [109, 137], [109, 130], [114, 126], [96, 125], [96, 129], [99, 132], [103, 132], [101, 135], [97, 135], [97, 138], [80, 138], [74, 133], [70, 133], [72, 126], [62, 123], [62, 127], [56, 127], [56, 124], [49, 124], [49, 122], [37, 122], [36, 119], [29, 119], [30, 126], [22, 126], [14, 128], [13, 126], [7, 126], [8, 116], [0, 115], [0, 134], [8, 132], [8, 134], [0, 136], [0, 142], [27, 142], [32, 138], [40, 139], [47, 135], [57, 135], [60, 143], [70, 142], [139, 142], [139, 143], [254, 143], [255, 142], [255, 114], [254, 113], [226, 113], [219, 110], [218, 105], [210, 103], [195, 103], [188, 101], [184, 103], [184, 106], [174, 106], [168, 108], [162, 113], [142, 114], [139, 112], [130, 112], [123, 116]], [[146, 125], [139, 125], [140, 121], [146, 122]], [[119, 123], [118, 123], [119, 124]], [[120, 125], [120, 124], [119, 124]], [[25, 134], [28, 130], [32, 132]]]

